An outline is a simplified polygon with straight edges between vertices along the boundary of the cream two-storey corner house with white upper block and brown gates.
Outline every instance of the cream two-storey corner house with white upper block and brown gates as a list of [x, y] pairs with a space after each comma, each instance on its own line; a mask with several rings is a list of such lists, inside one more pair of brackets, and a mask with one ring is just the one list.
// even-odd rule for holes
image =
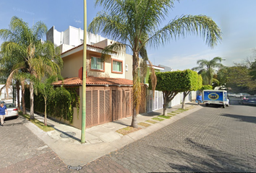
[[[76, 39], [74, 37], [73, 40], [68, 39], [65, 37], [67, 31], [57, 32], [54, 27], [48, 31], [48, 38], [51, 38], [50, 40], [61, 48], [61, 58], [64, 61], [64, 67], [61, 71], [64, 80], [57, 81], [54, 85], [77, 88], [77, 95], [80, 96], [81, 100], [80, 110], [77, 115], [77, 108], [73, 107], [73, 122], [70, 125], [81, 129], [82, 80], [79, 78], [79, 71], [83, 61], [83, 43], [81, 44], [77, 40], [83, 41], [80, 39], [83, 37], [80, 32], [83, 33], [83, 31], [75, 30], [73, 27], [69, 27], [68, 31], [69, 37], [74, 35], [71, 32], [75, 31]], [[55, 37], [55, 33], [60, 36]], [[127, 56], [126, 53], [113, 52], [103, 60], [101, 58], [103, 48], [113, 44], [114, 41], [93, 34], [89, 34], [89, 36], [87, 42], [91, 44], [87, 44], [86, 52], [87, 128], [132, 116], [132, 62], [129, 62], [132, 61], [131, 56]], [[61, 121], [69, 124], [66, 120], [62, 119]]]

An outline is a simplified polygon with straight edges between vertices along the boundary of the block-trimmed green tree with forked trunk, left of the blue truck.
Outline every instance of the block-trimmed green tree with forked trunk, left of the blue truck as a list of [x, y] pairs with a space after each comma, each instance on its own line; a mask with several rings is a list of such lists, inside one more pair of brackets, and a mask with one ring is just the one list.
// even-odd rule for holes
[[[156, 72], [155, 75], [158, 80], [155, 89], [163, 92], [163, 115], [166, 115], [168, 103], [174, 99], [176, 94], [179, 92], [187, 94], [189, 90], [199, 89], [202, 85], [201, 77], [191, 70]], [[151, 88], [149, 79], [149, 89]]]

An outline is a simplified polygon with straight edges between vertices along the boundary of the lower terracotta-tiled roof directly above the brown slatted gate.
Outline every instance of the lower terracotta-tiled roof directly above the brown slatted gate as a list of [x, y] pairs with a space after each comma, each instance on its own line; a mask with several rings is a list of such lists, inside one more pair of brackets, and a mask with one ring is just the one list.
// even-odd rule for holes
[[[79, 77], [67, 78], [63, 81], [56, 81], [54, 85], [82, 85], [82, 80]], [[132, 85], [132, 80], [121, 78], [104, 78], [88, 76], [86, 85]]]

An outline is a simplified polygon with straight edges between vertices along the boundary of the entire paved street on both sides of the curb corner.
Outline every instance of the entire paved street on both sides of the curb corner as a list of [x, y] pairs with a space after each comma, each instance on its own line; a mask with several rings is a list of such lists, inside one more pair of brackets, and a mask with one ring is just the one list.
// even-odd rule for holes
[[[236, 100], [226, 109], [203, 107], [81, 165], [79, 172], [255, 172], [255, 112], [256, 107], [237, 105]], [[0, 172], [77, 172], [67, 169], [22, 120], [0, 132]]]

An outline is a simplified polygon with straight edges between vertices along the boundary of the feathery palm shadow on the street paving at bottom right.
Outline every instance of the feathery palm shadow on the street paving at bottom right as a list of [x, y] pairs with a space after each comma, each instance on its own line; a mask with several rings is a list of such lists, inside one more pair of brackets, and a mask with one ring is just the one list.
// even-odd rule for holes
[[179, 170], [179, 172], [255, 171], [255, 169], [249, 165], [254, 163], [249, 163], [247, 159], [227, 153], [226, 151], [218, 150], [211, 146], [202, 145], [192, 141], [191, 138], [186, 138], [185, 143], [189, 146], [189, 150], [186, 150], [186, 148], [179, 150], [162, 148], [164, 153], [168, 152], [168, 154], [176, 157], [176, 160], [169, 162], [168, 165], [172, 169]]

